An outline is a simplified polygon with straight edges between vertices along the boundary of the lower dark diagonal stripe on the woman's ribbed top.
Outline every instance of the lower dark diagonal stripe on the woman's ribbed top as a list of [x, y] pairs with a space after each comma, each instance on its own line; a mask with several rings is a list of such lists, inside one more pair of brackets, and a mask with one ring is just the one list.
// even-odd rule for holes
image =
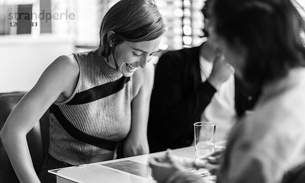
[[109, 151], [114, 151], [115, 145], [117, 142], [105, 140], [96, 136], [88, 135], [79, 129], [77, 129], [74, 125], [72, 125], [69, 120], [64, 116], [64, 114], [60, 111], [57, 105], [52, 104], [50, 107], [50, 113], [52, 113], [60, 125], [75, 139], [92, 144], [98, 148], [102, 148]]

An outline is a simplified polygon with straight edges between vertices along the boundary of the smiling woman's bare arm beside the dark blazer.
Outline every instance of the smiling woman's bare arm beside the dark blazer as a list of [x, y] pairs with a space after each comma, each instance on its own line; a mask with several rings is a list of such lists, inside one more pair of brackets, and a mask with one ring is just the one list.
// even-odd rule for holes
[[138, 69], [132, 76], [134, 98], [131, 103], [131, 130], [124, 144], [125, 157], [149, 153], [147, 121], [154, 73], [154, 65], [148, 63], [144, 69]]

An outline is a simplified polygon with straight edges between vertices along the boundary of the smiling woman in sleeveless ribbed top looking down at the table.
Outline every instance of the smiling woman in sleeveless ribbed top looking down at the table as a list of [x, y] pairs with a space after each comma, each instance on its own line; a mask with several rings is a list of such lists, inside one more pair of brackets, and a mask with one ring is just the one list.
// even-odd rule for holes
[[[153, 0], [121, 0], [104, 16], [97, 50], [59, 56], [14, 108], [0, 137], [22, 182], [56, 182], [49, 169], [149, 153], [146, 128], [154, 66], [165, 33]], [[138, 69], [141, 67], [142, 69]], [[26, 134], [50, 108], [50, 146], [40, 179]]]

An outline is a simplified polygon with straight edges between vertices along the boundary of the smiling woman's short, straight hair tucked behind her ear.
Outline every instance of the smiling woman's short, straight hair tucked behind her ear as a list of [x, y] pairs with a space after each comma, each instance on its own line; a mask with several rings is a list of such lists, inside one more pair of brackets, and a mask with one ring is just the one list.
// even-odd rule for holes
[[[108, 36], [110, 31], [114, 33]], [[166, 26], [154, 0], [121, 0], [102, 20], [99, 51], [107, 58], [112, 54], [117, 67], [114, 49], [118, 44], [155, 40], [165, 31]]]

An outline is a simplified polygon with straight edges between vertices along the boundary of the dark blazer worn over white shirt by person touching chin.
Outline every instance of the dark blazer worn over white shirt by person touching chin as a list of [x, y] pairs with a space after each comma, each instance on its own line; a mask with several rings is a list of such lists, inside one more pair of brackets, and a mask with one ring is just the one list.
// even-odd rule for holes
[[[151, 93], [147, 137], [150, 153], [188, 147], [216, 89], [202, 83], [199, 66], [200, 47], [169, 51], [161, 56]], [[247, 90], [235, 77], [237, 116], [253, 107], [259, 92]]]

